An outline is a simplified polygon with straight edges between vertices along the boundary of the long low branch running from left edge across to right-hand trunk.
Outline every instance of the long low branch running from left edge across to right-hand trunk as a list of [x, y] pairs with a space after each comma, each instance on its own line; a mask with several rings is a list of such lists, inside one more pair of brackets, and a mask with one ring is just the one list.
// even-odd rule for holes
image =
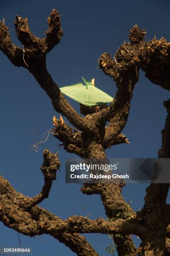
[[[64, 232], [105, 234], [125, 232], [139, 235], [145, 231], [134, 215], [129, 216], [127, 220], [117, 219], [114, 221], [106, 221], [103, 218], [90, 220], [82, 216], [72, 216], [67, 220], [61, 220], [56, 215], [38, 206], [26, 209], [20, 207], [20, 205], [25, 205], [30, 198], [18, 193], [2, 177], [0, 177], [0, 185], [0, 217], [2, 222], [9, 228], [27, 236], [44, 233], [53, 236]], [[140, 229], [138, 226], [140, 226]]]

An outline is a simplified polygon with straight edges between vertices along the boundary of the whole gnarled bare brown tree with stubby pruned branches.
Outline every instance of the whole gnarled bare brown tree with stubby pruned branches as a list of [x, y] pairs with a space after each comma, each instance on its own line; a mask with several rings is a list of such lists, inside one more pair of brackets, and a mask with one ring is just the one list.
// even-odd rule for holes
[[[63, 33], [57, 10], [52, 10], [47, 22], [45, 38], [37, 38], [30, 31], [28, 19], [16, 16], [15, 30], [23, 49], [13, 44], [8, 28], [0, 22], [0, 49], [15, 66], [28, 69], [50, 97], [54, 109], [77, 129], [72, 131], [62, 119], [54, 120], [54, 136], [62, 141], [64, 149], [84, 158], [105, 159], [106, 148], [128, 143], [121, 131], [128, 119], [139, 69], [151, 82], [170, 90], [170, 43], [165, 38], [144, 41], [146, 32], [137, 25], [133, 26], [129, 34], [130, 42], [119, 47], [113, 60], [108, 53], [102, 54], [99, 59], [99, 68], [116, 83], [115, 99], [110, 106], [97, 112], [95, 108], [92, 111], [81, 106], [81, 113], [85, 115], [82, 117], [70, 106], [47, 71], [46, 54], [59, 44]], [[159, 158], [170, 157], [170, 100], [165, 101], [164, 106], [168, 115], [162, 131]], [[109, 122], [107, 127], [106, 122]], [[75, 133], [78, 135], [75, 136]], [[40, 194], [33, 198], [18, 193], [0, 176], [0, 220], [4, 225], [26, 236], [49, 234], [77, 255], [98, 255], [80, 233], [111, 234], [119, 256], [170, 255], [170, 205], [166, 204], [169, 184], [150, 184], [146, 189], [143, 209], [138, 212], [134, 212], [122, 197], [121, 190], [125, 183], [84, 184], [82, 193], [100, 195], [110, 221], [81, 216], [62, 220], [37, 206], [48, 197], [60, 166], [57, 155], [48, 149], [44, 150], [43, 158], [41, 171], [44, 186]], [[118, 212], [121, 215], [117, 219]], [[139, 248], [135, 247], [132, 234], [141, 238]]]

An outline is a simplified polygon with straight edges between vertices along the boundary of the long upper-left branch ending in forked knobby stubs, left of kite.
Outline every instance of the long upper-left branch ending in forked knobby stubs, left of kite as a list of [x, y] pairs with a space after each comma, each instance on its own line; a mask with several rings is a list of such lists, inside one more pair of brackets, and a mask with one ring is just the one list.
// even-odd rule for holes
[[[55, 44], [58, 44], [62, 37], [62, 29], [60, 27], [60, 17], [57, 10], [52, 10], [48, 18], [48, 30], [46, 38], [37, 38], [34, 36], [28, 26], [28, 19], [20, 16], [16, 17], [15, 28], [18, 39], [24, 46], [24, 49], [17, 48], [11, 41], [7, 33], [4, 23], [0, 23], [1, 34], [1, 50], [7, 55], [15, 66], [25, 67], [35, 77], [43, 90], [52, 100], [54, 109], [66, 116], [67, 119], [80, 131], [92, 133], [94, 137], [99, 137], [99, 131], [95, 123], [90, 123], [86, 118], [82, 118], [67, 102], [60, 92], [57, 84], [46, 69], [46, 54]], [[4, 41], [4, 39], [7, 39]], [[12, 48], [12, 49], [11, 49]], [[19, 53], [19, 54], [18, 54]]]

